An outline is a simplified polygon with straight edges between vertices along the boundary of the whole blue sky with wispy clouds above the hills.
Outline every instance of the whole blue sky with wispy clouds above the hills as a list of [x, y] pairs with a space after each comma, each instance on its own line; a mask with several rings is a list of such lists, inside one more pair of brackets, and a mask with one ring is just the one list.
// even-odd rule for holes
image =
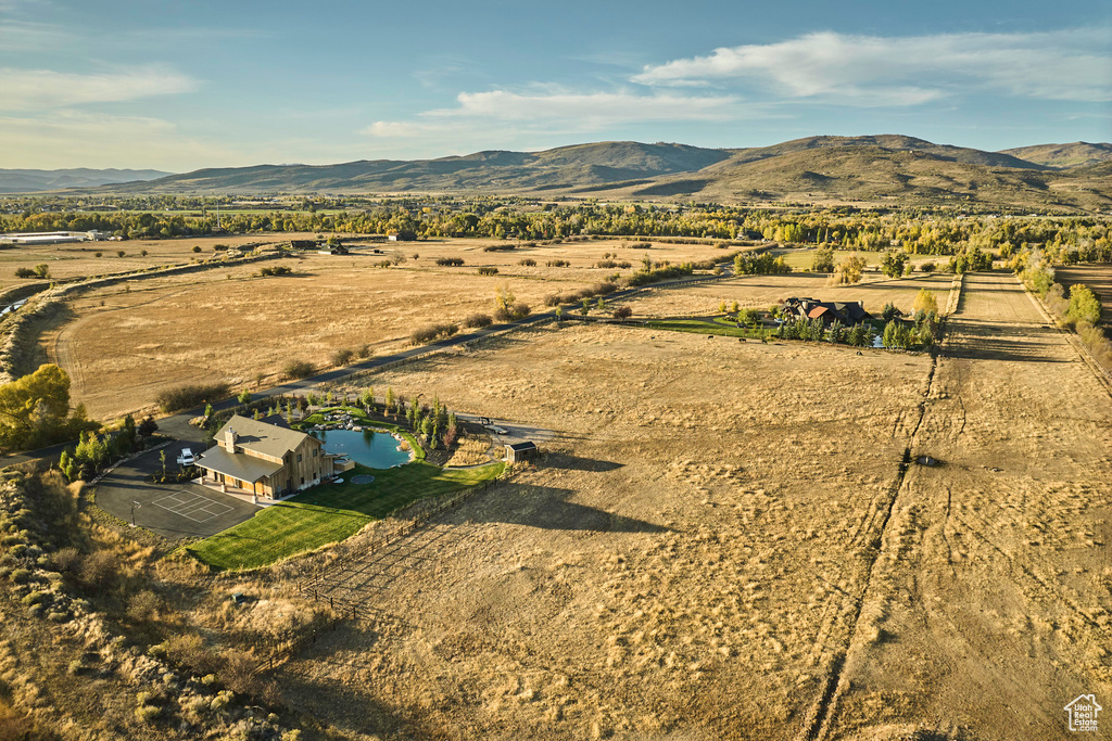
[[0, 0], [0, 168], [1112, 141], [1108, 0]]

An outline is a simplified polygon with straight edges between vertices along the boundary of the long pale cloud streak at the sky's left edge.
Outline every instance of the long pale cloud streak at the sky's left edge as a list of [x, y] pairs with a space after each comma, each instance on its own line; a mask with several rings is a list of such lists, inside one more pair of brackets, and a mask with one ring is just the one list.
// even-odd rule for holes
[[120, 102], [197, 90], [197, 80], [162, 68], [75, 74], [52, 70], [0, 69], [0, 111], [34, 111]]

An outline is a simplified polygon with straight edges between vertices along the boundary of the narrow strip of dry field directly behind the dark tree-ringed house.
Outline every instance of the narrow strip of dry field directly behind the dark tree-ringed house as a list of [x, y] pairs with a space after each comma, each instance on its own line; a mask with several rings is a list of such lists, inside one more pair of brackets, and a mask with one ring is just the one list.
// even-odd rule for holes
[[910, 312], [915, 296], [926, 289], [934, 292], [940, 308], [946, 306], [953, 276], [931, 274], [900, 280], [865, 280], [852, 286], [826, 286], [821, 273], [786, 276], [745, 276], [714, 283], [695, 284], [682, 291], [649, 290], [628, 300], [635, 316], [709, 314], [718, 304], [734, 301], [742, 307], [767, 309], [788, 297], [810, 297], [820, 301], [864, 301], [865, 310], [878, 317], [884, 304]]

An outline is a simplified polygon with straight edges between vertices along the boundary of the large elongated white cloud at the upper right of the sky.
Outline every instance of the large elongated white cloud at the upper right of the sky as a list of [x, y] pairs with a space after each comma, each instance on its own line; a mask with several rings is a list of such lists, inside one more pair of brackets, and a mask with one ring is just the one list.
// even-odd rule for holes
[[909, 38], [810, 33], [647, 66], [649, 86], [763, 83], [788, 98], [912, 106], [960, 92], [1112, 100], [1108, 29]]

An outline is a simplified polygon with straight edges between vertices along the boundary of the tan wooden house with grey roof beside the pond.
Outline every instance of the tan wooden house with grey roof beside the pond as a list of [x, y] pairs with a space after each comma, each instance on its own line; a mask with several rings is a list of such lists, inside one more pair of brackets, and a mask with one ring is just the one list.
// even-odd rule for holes
[[236, 414], [197, 457], [206, 483], [278, 499], [332, 475], [336, 455], [311, 434]]

